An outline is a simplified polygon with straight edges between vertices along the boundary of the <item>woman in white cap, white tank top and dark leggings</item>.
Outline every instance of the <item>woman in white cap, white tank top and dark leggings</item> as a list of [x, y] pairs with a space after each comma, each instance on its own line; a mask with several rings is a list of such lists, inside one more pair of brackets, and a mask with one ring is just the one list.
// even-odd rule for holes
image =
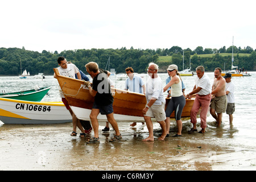
[[166, 131], [167, 137], [169, 135], [170, 130], [170, 115], [173, 111], [175, 111], [175, 119], [177, 122], [178, 131], [177, 134], [173, 137], [180, 137], [181, 130], [182, 130], [182, 122], [181, 122], [181, 113], [183, 107], [185, 106], [185, 97], [182, 93], [182, 85], [181, 85], [181, 78], [179, 73], [177, 72], [177, 65], [171, 64], [167, 69], [168, 75], [171, 76], [171, 81], [164, 87], [163, 91], [166, 90], [171, 86], [171, 100], [169, 101], [166, 107]]

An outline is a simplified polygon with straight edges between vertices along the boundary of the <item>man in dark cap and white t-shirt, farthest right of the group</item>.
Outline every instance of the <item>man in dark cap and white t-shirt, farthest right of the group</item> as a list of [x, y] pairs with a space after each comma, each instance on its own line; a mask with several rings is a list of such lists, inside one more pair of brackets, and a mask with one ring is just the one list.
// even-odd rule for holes
[[228, 100], [228, 105], [226, 107], [226, 114], [229, 115], [229, 123], [232, 125], [233, 113], [235, 111], [235, 98], [234, 98], [234, 83], [231, 81], [232, 75], [226, 73], [224, 76], [226, 80], [226, 98]]

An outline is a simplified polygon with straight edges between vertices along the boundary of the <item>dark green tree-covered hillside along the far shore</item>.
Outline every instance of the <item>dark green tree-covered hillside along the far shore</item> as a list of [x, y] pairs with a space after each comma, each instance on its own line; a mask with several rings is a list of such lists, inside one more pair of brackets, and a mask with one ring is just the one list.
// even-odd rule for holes
[[[203, 50], [203, 51], [202, 51]], [[194, 51], [191, 49], [182, 49], [173, 46], [170, 49], [127, 49], [122, 47], [119, 49], [77, 49], [65, 50], [60, 53], [57, 51], [49, 52], [28, 51], [23, 48], [0, 48], [0, 75], [20, 75], [20, 60], [22, 62], [22, 71], [26, 69], [30, 75], [36, 75], [40, 72], [45, 75], [53, 75], [53, 69], [59, 65], [57, 58], [64, 56], [68, 61], [75, 64], [81, 71], [86, 73], [84, 67], [89, 61], [98, 63], [100, 68], [106, 68], [106, 63], [110, 59], [109, 68], [114, 68], [117, 73], [125, 72], [125, 68], [133, 67], [135, 72], [145, 73], [148, 63], [156, 63], [159, 67], [166, 67], [170, 64], [177, 64], [182, 68], [184, 62], [186, 65], [191, 59], [191, 68], [195, 70], [198, 65], [204, 65], [206, 71], [213, 71], [215, 67], [221, 67], [226, 63], [226, 68], [231, 67], [231, 56], [221, 56], [220, 53], [230, 52], [230, 47], [222, 47], [220, 49], [203, 49], [197, 47]], [[201, 54], [209, 53], [208, 57], [201, 57]], [[239, 53], [249, 53], [250, 56], [239, 56]], [[234, 65], [241, 65], [247, 70], [254, 69], [254, 60], [256, 53], [250, 47], [245, 49], [235, 48], [234, 53], [238, 53], [235, 57]], [[160, 61], [159, 56], [172, 56], [171, 61]], [[230, 65], [230, 66], [229, 66]], [[108, 68], [108, 67], [107, 67]], [[179, 71], [181, 71], [179, 69]]]

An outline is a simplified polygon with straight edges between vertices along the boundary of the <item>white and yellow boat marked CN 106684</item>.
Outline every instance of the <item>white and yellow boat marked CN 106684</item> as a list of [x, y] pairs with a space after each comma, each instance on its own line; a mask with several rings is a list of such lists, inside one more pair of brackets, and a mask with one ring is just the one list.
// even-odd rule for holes
[[0, 97], [0, 120], [5, 124], [72, 122], [63, 102], [31, 102]]

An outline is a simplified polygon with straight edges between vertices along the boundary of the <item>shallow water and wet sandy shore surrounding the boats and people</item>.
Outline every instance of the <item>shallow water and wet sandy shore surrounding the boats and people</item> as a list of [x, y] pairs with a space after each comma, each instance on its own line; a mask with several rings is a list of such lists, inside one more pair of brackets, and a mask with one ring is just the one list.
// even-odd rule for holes
[[[206, 73], [213, 82], [213, 73]], [[163, 82], [167, 74], [159, 74]], [[100, 123], [100, 144], [86, 144], [86, 138], [71, 137], [72, 123], [59, 125], [1, 125], [0, 170], [255, 170], [256, 167], [256, 101], [254, 85], [256, 73], [251, 77], [233, 77], [236, 85], [236, 111], [233, 126], [223, 114], [221, 127], [207, 118], [207, 133], [188, 134], [189, 119], [183, 119], [182, 137], [166, 138], [164, 142], [142, 142], [148, 136], [147, 127], [138, 123], [118, 123], [122, 142], [110, 143], [114, 131], [102, 133], [105, 123]], [[143, 80], [147, 75], [143, 74]], [[195, 77], [182, 77], [185, 93], [191, 92]], [[116, 81], [123, 88], [124, 81]], [[26, 80], [18, 77], [0, 77], [0, 91], [14, 92], [51, 86], [49, 96], [42, 101], [61, 101], [58, 83], [53, 76], [39, 80], [32, 76]], [[200, 119], [197, 119], [200, 130]], [[79, 130], [77, 130], [79, 133]], [[172, 121], [170, 135], [176, 134]], [[154, 123], [155, 139], [160, 126]]]

